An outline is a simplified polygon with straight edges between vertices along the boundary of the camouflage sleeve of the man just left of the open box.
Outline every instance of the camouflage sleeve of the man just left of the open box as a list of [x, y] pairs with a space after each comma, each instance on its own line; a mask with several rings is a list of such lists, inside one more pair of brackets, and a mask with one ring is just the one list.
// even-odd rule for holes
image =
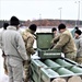
[[35, 50], [33, 48], [33, 44], [34, 44], [34, 38], [33, 37], [28, 37], [27, 38], [27, 44], [26, 44], [26, 49], [30, 54], [35, 54]]

